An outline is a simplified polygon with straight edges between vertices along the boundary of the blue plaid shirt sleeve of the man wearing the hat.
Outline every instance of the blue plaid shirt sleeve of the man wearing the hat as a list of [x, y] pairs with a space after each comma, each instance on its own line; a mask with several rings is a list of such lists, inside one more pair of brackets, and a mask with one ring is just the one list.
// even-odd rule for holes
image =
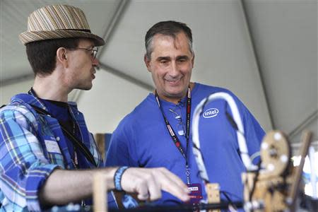
[[36, 129], [30, 111], [1, 110], [0, 196], [8, 211], [41, 211], [38, 191], [58, 167], [45, 158]]

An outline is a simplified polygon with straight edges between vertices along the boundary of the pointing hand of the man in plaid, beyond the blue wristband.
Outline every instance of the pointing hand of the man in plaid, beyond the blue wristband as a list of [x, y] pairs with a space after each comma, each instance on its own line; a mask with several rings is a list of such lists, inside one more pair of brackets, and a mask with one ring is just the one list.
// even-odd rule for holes
[[160, 199], [161, 190], [163, 190], [182, 201], [189, 201], [188, 187], [177, 175], [172, 174], [164, 167], [129, 167], [122, 175], [121, 183], [125, 192], [137, 193], [140, 200]]

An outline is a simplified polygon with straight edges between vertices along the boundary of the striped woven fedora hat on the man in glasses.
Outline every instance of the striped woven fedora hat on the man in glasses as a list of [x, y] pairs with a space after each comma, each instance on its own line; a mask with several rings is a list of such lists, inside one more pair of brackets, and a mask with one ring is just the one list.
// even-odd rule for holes
[[101, 37], [90, 33], [83, 11], [69, 5], [45, 6], [30, 13], [28, 30], [19, 35], [23, 45], [40, 40], [68, 37], [91, 38], [96, 46], [105, 45]]

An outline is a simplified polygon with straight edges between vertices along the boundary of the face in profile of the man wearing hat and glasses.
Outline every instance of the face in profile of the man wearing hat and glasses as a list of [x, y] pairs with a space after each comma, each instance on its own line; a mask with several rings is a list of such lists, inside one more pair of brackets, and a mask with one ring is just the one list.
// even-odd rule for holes
[[69, 67], [67, 70], [67, 81], [71, 89], [90, 90], [95, 78], [95, 66], [98, 59], [93, 59], [94, 43], [90, 40], [80, 40], [77, 49], [69, 51]]

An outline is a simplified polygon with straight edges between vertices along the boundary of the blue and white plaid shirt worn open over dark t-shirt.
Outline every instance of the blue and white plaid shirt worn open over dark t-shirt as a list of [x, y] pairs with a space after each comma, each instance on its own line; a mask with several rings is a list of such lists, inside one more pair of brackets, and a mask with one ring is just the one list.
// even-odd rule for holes
[[[75, 168], [57, 119], [37, 114], [30, 105], [47, 110], [40, 100], [28, 94], [14, 96], [0, 110], [0, 211], [41, 211], [37, 192], [50, 173], [56, 168]], [[69, 105], [80, 128], [81, 141], [101, 167], [102, 158], [83, 114], [75, 102]]]

